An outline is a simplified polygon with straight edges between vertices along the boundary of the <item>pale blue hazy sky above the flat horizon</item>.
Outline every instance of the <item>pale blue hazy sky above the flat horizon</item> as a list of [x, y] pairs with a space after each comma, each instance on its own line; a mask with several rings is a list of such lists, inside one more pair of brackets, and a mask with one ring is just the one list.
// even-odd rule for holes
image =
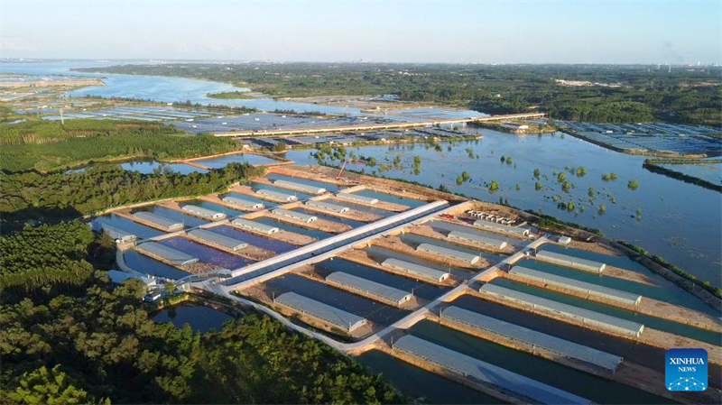
[[0, 58], [722, 64], [722, 1], [0, 0]]

